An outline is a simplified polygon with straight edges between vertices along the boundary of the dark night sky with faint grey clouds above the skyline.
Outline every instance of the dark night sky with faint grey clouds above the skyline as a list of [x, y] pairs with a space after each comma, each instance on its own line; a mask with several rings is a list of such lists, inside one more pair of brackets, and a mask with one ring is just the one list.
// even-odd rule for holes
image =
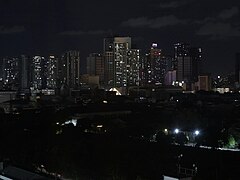
[[131, 36], [138, 48], [157, 42], [200, 46], [204, 68], [234, 71], [240, 52], [239, 0], [1, 0], [0, 56], [101, 52], [106, 36]]

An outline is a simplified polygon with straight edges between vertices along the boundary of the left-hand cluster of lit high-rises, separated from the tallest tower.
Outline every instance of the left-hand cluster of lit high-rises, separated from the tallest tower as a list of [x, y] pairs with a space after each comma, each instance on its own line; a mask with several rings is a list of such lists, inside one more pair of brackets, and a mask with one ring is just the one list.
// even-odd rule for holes
[[5, 57], [1, 62], [0, 89], [55, 94], [63, 87], [80, 84], [80, 53], [69, 51], [61, 57]]

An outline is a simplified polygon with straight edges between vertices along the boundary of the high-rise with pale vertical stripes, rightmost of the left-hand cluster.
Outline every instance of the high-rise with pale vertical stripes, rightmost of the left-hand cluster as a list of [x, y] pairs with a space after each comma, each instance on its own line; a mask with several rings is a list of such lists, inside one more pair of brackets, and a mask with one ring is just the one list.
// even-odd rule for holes
[[60, 85], [66, 85], [70, 89], [78, 88], [80, 84], [80, 53], [78, 51], [66, 52], [58, 64], [58, 73]]

